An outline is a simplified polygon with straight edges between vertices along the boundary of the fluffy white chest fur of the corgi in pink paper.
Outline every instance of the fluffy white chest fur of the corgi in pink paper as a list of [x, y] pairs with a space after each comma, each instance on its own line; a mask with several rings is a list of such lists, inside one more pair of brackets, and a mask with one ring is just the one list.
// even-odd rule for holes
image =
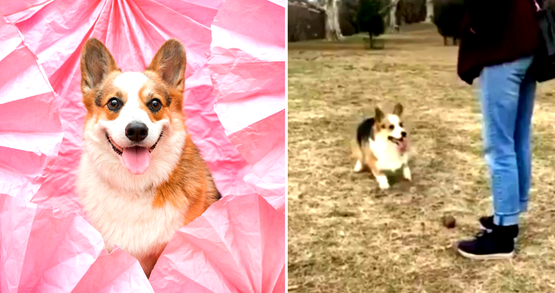
[[117, 245], [143, 264], [160, 253], [182, 226], [186, 209], [169, 204], [153, 207], [155, 190], [130, 192], [112, 187], [96, 174], [86, 154], [79, 173], [81, 203], [108, 251]]

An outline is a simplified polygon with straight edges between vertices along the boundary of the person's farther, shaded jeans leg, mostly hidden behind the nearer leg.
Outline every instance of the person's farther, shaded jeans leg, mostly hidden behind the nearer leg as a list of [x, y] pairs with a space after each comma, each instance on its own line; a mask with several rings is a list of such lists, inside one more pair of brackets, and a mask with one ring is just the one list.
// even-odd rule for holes
[[536, 95], [536, 81], [528, 74], [520, 85], [517, 123], [515, 129], [515, 152], [518, 166], [518, 194], [520, 212], [528, 208], [528, 193], [531, 183], [532, 158], [530, 150], [533, 101]]

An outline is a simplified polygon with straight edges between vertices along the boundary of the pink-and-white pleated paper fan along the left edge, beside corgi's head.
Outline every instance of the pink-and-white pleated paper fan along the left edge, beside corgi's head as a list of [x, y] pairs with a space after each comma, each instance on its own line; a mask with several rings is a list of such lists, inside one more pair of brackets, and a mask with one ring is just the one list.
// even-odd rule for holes
[[0, 193], [31, 200], [62, 134], [46, 74], [17, 27], [0, 15]]

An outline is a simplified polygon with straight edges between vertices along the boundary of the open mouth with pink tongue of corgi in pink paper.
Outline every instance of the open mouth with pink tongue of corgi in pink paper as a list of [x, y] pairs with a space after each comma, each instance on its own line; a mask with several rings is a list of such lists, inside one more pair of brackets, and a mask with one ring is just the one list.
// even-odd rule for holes
[[156, 147], [160, 139], [162, 138], [162, 134], [164, 131], [160, 132], [160, 136], [156, 140], [156, 142], [149, 147], [120, 147], [108, 133], [106, 133], [106, 138], [108, 138], [108, 142], [112, 145], [112, 149], [121, 156], [121, 161], [123, 165], [131, 172], [131, 174], [143, 174], [148, 166], [151, 165], [151, 152]]

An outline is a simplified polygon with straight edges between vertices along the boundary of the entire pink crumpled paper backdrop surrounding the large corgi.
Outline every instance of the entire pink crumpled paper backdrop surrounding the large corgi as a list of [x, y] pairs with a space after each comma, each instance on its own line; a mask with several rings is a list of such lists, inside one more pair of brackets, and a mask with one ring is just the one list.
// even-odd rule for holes
[[[0, 0], [0, 292], [284, 292], [284, 15], [277, 0]], [[185, 44], [185, 123], [224, 196], [150, 283], [78, 215], [89, 37], [123, 71]]]

